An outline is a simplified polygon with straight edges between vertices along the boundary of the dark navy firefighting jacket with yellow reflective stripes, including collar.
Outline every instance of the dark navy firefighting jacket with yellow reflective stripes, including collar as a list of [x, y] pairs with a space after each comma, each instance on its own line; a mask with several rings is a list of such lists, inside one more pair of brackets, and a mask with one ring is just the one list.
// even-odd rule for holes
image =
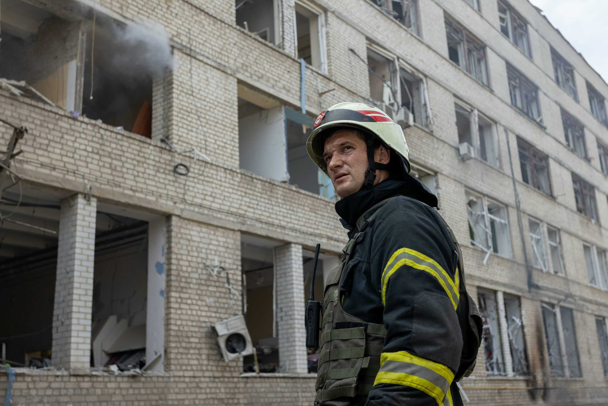
[[[396, 198], [368, 210], [390, 197]], [[336, 203], [351, 238], [365, 220], [361, 215], [373, 216], [342, 270], [341, 309], [385, 327], [373, 385], [336, 401], [357, 406], [462, 404], [452, 381], [463, 349], [460, 326], [467, 321], [459, 321], [457, 312], [458, 255], [435, 206], [437, 197], [411, 177], [389, 178]]]

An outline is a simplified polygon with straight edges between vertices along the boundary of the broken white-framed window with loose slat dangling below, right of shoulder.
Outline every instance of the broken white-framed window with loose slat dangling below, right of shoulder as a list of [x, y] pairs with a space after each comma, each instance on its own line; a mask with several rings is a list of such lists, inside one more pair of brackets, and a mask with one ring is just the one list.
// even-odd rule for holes
[[486, 264], [492, 252], [510, 257], [511, 242], [506, 207], [471, 192], [467, 192], [466, 198], [471, 245], [486, 251], [483, 264]]

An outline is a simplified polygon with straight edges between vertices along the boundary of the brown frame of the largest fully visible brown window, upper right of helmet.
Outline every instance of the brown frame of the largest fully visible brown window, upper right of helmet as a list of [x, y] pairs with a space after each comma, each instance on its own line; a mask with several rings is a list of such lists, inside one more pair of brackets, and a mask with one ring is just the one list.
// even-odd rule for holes
[[[486, 46], [482, 41], [475, 38], [470, 32], [468, 32], [463, 26], [458, 24], [454, 19], [444, 18], [446, 27], [447, 43], [450, 43], [450, 36], [454, 37], [460, 43], [459, 59], [460, 63], [456, 63], [460, 69], [467, 72], [477, 82], [489, 88], [489, 75], [488, 75], [488, 60], [486, 58]], [[452, 40], [454, 42], [454, 40]], [[474, 58], [474, 63], [471, 64], [471, 55]], [[460, 58], [461, 56], [461, 58]], [[483, 65], [480, 65], [481, 69], [478, 71], [477, 57], [483, 58]], [[463, 63], [464, 61], [464, 63]], [[473, 66], [471, 66], [473, 65]]]

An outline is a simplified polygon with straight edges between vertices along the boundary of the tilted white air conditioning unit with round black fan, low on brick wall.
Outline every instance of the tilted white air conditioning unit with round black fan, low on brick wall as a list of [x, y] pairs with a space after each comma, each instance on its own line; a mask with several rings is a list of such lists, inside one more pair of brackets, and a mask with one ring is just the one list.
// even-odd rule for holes
[[255, 351], [243, 315], [218, 321], [213, 324], [213, 332], [218, 340], [219, 352], [226, 362]]

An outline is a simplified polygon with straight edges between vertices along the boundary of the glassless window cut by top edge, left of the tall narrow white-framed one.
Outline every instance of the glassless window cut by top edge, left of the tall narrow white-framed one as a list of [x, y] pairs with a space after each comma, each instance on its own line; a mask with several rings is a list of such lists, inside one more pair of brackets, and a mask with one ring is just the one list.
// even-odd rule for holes
[[275, 0], [235, 0], [237, 26], [277, 44], [280, 40], [276, 7]]

